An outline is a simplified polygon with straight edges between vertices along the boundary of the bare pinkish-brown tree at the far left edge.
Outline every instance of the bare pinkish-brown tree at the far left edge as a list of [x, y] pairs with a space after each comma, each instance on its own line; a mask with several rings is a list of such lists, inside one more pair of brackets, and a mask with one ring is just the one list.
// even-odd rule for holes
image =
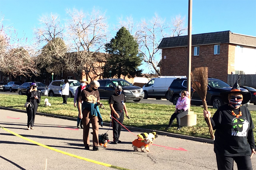
[[38, 75], [33, 49], [24, 45], [25, 37], [18, 38], [13, 27], [4, 27], [3, 21], [4, 18], [0, 22], [0, 71], [14, 77]]

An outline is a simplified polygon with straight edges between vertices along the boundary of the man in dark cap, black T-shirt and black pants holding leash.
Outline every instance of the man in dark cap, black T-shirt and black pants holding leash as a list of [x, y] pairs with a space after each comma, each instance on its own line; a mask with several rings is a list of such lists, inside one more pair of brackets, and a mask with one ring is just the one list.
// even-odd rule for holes
[[[111, 116], [114, 117], [118, 122], [123, 124], [124, 122], [124, 111], [125, 115], [128, 117], [128, 112], [126, 109], [126, 100], [124, 94], [122, 94], [122, 86], [116, 86], [115, 93], [112, 94], [109, 98], [109, 106], [111, 109]], [[122, 125], [120, 125], [115, 119], [112, 119], [112, 125], [113, 125], [113, 139], [114, 143], [121, 143], [121, 140], [119, 140]]]

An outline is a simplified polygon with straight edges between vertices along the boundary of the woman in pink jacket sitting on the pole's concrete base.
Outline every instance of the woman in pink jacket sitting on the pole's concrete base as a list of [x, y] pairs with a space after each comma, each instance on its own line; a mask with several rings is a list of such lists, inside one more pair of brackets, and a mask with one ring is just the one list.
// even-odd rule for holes
[[189, 93], [185, 90], [182, 90], [180, 92], [180, 97], [178, 98], [178, 101], [176, 103], [176, 110], [174, 112], [174, 114], [172, 114], [171, 119], [169, 121], [169, 126], [167, 129], [172, 127], [172, 123], [174, 121], [174, 119], [177, 119], [177, 124], [178, 124], [178, 128], [177, 130], [180, 130], [180, 118], [183, 118], [184, 116], [186, 116], [188, 114], [188, 107], [189, 107], [189, 103], [190, 103], [190, 99], [189, 97]]

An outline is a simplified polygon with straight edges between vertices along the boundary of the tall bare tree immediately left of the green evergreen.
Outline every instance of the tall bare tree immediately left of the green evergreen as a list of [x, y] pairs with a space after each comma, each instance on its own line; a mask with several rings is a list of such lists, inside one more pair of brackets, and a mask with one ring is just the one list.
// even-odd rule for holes
[[[95, 53], [103, 51], [104, 45], [107, 43], [108, 27], [105, 14], [95, 9], [90, 14], [77, 9], [66, 12], [70, 18], [66, 25], [67, 37], [72, 47], [71, 51], [76, 52], [76, 55], [72, 54], [72, 56], [76, 56], [76, 61], [73, 61], [70, 71], [86, 70], [87, 76], [88, 72], [100, 76], [101, 73], [97, 71], [97, 66], [95, 67], [95, 63], [98, 62]], [[69, 59], [72, 62], [72, 57]]]

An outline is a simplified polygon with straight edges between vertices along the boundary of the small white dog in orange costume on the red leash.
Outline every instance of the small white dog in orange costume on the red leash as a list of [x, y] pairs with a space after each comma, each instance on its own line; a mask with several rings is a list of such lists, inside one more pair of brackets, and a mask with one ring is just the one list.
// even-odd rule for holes
[[135, 139], [132, 142], [133, 150], [138, 151], [138, 148], [142, 152], [144, 152], [144, 149], [149, 152], [149, 145], [153, 143], [153, 140], [155, 139], [155, 136], [152, 133], [149, 133], [148, 136], [145, 139], [138, 138]]

